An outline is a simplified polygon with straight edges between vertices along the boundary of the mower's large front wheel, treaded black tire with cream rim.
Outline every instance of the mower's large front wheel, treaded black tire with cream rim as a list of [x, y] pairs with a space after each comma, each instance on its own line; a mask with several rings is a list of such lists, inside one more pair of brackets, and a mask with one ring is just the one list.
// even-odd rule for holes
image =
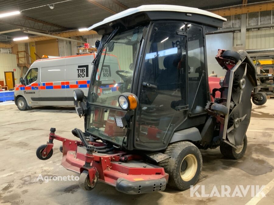
[[159, 162], [159, 166], [169, 174], [168, 186], [187, 190], [198, 182], [202, 171], [202, 155], [194, 144], [176, 142], [168, 145], [164, 153], [170, 158]]

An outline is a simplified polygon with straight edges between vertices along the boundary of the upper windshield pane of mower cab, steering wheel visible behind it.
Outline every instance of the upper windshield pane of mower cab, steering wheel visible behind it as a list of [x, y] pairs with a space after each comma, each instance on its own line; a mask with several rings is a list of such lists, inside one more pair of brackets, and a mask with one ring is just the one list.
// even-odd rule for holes
[[131, 92], [143, 27], [117, 33], [107, 43], [92, 76], [89, 102], [120, 108], [118, 96]]

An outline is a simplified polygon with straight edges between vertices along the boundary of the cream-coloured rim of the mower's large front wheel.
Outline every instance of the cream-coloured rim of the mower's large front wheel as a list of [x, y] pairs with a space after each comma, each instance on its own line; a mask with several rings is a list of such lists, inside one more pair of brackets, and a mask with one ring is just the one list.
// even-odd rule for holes
[[180, 166], [180, 175], [181, 178], [188, 182], [196, 174], [198, 168], [198, 161], [193, 154], [186, 155]]

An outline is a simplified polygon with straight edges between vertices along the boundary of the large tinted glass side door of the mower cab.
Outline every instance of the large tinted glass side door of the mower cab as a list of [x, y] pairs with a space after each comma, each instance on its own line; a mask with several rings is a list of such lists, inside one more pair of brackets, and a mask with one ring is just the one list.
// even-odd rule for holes
[[164, 149], [174, 129], [187, 117], [186, 36], [182, 28], [183, 22], [153, 24], [141, 68], [135, 148]]

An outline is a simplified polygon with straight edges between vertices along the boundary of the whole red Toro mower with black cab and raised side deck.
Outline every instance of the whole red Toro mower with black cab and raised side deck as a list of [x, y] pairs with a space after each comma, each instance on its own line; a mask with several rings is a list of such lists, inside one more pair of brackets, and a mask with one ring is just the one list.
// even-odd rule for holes
[[225, 78], [208, 77], [205, 35], [224, 21], [195, 8], [146, 5], [91, 26], [102, 39], [89, 93], [74, 91], [85, 131], [72, 130], [72, 140], [51, 128], [37, 157], [49, 159], [59, 140], [61, 165], [80, 174], [81, 188], [100, 181], [128, 194], [167, 184], [188, 189], [202, 170], [199, 149], [220, 146], [226, 157], [241, 158], [251, 98], [260, 97], [252, 93], [256, 68], [244, 51], [219, 50]]

